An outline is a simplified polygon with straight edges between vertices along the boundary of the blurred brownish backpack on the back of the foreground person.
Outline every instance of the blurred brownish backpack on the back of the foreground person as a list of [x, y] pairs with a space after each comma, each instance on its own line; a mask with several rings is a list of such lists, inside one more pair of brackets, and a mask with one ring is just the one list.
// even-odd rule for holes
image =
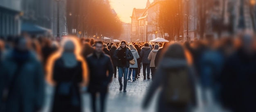
[[167, 103], [186, 105], [192, 99], [188, 69], [170, 69], [166, 75], [166, 90], [164, 96]]

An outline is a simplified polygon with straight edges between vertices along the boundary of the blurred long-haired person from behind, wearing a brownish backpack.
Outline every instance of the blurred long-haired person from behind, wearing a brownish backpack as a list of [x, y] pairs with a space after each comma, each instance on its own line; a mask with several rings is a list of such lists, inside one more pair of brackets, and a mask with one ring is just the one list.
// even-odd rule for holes
[[144, 99], [143, 108], [148, 107], [155, 91], [162, 87], [156, 112], [190, 112], [190, 105], [195, 104], [191, 71], [182, 45], [171, 45], [159, 63], [155, 78]]

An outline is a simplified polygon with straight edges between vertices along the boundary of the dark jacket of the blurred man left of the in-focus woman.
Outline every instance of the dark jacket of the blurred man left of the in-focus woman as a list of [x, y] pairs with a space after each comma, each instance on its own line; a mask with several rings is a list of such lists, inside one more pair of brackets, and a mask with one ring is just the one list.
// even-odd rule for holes
[[110, 56], [102, 53], [97, 58], [94, 52], [87, 57], [87, 63], [90, 69], [88, 92], [107, 92], [114, 73]]

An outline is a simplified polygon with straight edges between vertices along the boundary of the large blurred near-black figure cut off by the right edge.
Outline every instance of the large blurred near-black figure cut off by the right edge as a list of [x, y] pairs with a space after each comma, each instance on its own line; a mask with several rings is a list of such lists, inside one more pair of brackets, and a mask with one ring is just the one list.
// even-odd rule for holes
[[256, 111], [256, 52], [251, 35], [240, 38], [241, 46], [225, 61], [221, 74], [221, 99], [232, 112]]

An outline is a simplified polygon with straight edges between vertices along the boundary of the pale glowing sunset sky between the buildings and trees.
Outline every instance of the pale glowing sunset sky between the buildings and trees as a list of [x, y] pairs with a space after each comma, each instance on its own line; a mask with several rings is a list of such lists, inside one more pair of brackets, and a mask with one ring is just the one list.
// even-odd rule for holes
[[[150, 3], [153, 0], [149, 0]], [[132, 9], [144, 9], [146, 7], [147, 0], [109, 0], [111, 6], [117, 12], [121, 21], [130, 23], [132, 16]]]

